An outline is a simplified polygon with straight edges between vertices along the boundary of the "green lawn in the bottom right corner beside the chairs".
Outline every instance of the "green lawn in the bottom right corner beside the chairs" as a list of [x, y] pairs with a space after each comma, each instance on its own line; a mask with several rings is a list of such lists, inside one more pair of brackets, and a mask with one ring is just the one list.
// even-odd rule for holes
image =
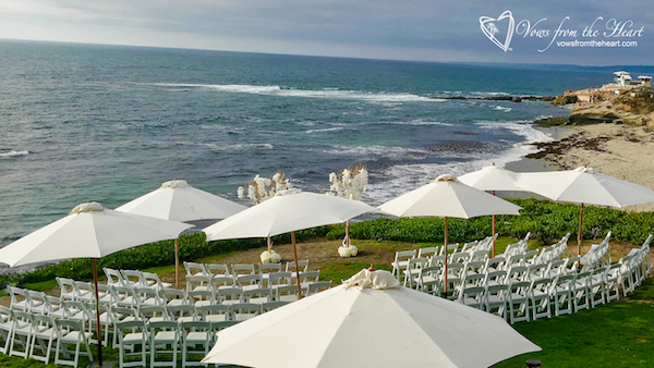
[[654, 367], [654, 283], [646, 280], [629, 298], [574, 315], [513, 324], [543, 348], [499, 363], [494, 368]]

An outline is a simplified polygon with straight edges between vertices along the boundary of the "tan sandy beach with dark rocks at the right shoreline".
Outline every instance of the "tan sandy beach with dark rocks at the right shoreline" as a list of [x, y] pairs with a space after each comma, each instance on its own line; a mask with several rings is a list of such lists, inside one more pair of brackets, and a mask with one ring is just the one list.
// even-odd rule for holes
[[[526, 156], [553, 170], [581, 165], [628, 182], [654, 188], [654, 132], [644, 126], [616, 123], [571, 126], [558, 140], [538, 143]], [[625, 207], [628, 211], [654, 211], [654, 204]]]

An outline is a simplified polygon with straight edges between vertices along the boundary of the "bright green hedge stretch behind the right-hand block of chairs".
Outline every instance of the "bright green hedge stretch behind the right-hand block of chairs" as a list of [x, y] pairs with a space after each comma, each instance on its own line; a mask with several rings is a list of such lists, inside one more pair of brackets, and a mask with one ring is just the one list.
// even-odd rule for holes
[[[577, 236], [579, 231], [580, 206], [555, 204], [538, 199], [510, 199], [522, 207], [520, 216], [498, 216], [497, 233], [521, 238], [528, 232], [532, 238], [552, 242], [567, 233]], [[470, 220], [449, 219], [448, 241], [451, 243], [469, 242], [491, 235], [491, 217]], [[654, 214], [652, 212], [627, 213], [610, 208], [594, 206], [584, 207], [583, 238], [603, 237], [608, 231], [620, 240], [641, 244], [650, 233], [654, 232]], [[352, 223], [350, 234], [353, 238], [386, 240], [398, 242], [443, 242], [444, 219], [414, 218], [366, 220]], [[336, 240], [344, 236], [344, 226], [334, 226], [327, 238]]]

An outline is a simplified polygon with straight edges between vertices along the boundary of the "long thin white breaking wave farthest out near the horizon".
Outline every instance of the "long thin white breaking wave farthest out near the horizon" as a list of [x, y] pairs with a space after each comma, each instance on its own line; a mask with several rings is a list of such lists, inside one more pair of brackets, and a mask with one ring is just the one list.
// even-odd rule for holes
[[155, 83], [155, 86], [160, 87], [189, 87], [189, 88], [209, 88], [226, 93], [265, 95], [265, 96], [281, 96], [281, 97], [308, 97], [308, 98], [328, 98], [343, 100], [363, 100], [368, 102], [441, 102], [443, 99], [419, 96], [413, 94], [398, 93], [366, 93], [360, 90], [341, 90], [337, 88], [323, 89], [295, 89], [282, 88], [280, 86], [254, 86], [242, 84], [173, 84], [173, 83]]

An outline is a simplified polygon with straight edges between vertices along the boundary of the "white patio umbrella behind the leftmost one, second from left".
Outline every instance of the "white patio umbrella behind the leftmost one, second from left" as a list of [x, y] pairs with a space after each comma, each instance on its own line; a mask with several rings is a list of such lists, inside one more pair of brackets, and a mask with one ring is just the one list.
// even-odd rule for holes
[[[195, 188], [186, 181], [173, 180], [146, 195], [131, 200], [117, 211], [172, 221], [220, 220], [246, 207]], [[174, 285], [180, 285], [179, 238], [174, 240]]]

